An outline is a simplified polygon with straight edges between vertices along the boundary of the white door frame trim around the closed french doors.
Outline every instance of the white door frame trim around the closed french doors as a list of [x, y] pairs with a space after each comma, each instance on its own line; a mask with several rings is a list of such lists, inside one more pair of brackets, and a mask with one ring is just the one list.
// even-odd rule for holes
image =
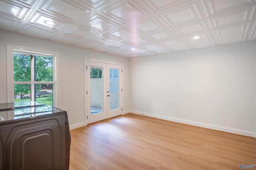
[[[124, 108], [124, 64], [121, 63], [115, 63], [115, 62], [110, 62], [110, 61], [102, 61], [102, 60], [97, 60], [97, 59], [89, 59], [89, 58], [84, 58], [84, 122], [87, 125], [87, 115], [88, 115], [88, 109], [87, 109], [87, 62], [88, 61], [93, 61], [93, 62], [98, 62], [98, 63], [104, 63], [104, 64], [115, 64], [115, 65], [120, 65], [122, 66], [122, 71], [120, 74], [122, 74], [122, 103], [121, 103], [121, 108]], [[124, 115], [124, 110], [122, 110], [122, 115]]]

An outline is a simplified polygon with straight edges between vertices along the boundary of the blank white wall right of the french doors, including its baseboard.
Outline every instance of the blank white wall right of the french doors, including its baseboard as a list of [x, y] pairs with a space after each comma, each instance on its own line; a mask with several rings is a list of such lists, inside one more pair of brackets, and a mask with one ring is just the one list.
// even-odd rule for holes
[[130, 61], [131, 112], [255, 137], [256, 41]]

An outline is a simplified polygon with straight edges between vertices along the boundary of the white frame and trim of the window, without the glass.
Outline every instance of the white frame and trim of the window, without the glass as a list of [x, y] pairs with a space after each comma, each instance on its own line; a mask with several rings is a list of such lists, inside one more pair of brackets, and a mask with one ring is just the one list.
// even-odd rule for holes
[[14, 66], [13, 66], [13, 52], [18, 51], [27, 55], [43, 55], [52, 57], [52, 82], [15, 82], [15, 84], [53, 84], [53, 106], [58, 106], [58, 98], [60, 97], [60, 53], [54, 51], [47, 51], [42, 49], [34, 49], [30, 47], [23, 47], [18, 45], [6, 45], [6, 63], [7, 63], [7, 102], [14, 102]]

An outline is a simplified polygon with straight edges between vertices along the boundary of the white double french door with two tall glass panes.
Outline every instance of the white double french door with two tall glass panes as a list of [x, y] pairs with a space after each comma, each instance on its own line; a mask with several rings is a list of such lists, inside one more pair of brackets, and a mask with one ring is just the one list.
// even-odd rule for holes
[[122, 114], [122, 66], [87, 61], [87, 123]]

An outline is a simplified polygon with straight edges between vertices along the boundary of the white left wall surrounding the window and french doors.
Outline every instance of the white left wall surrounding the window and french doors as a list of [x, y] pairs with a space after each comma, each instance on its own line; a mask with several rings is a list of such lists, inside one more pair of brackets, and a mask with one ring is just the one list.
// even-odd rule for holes
[[68, 112], [70, 125], [84, 122], [84, 58], [124, 64], [124, 107], [129, 105], [129, 59], [90, 49], [65, 45], [18, 33], [0, 30], [0, 103], [7, 102], [6, 92], [6, 44], [20, 45], [60, 53], [60, 99], [58, 107]]

